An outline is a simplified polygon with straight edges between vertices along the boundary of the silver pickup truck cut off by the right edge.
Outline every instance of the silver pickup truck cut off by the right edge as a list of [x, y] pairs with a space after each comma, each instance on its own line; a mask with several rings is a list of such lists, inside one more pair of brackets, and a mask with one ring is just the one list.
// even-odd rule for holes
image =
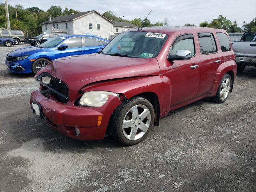
[[256, 67], [256, 32], [246, 32], [240, 41], [233, 41], [236, 54], [237, 72], [242, 73], [246, 66]]

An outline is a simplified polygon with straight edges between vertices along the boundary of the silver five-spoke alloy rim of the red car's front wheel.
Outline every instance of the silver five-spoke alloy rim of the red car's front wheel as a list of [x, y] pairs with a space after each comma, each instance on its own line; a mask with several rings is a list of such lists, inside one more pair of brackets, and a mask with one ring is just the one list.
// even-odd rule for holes
[[133, 106], [124, 116], [123, 134], [129, 140], [140, 139], [148, 131], [150, 122], [151, 114], [146, 106]]

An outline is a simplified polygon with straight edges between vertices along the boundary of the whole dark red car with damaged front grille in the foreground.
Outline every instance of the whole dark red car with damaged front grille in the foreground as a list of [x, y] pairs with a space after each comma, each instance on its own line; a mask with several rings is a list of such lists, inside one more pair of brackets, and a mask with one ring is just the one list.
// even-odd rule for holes
[[[107, 133], [144, 140], [169, 111], [205, 97], [227, 100], [236, 77], [225, 30], [151, 27], [123, 32], [98, 54], [56, 59], [35, 78], [30, 104], [59, 132], [79, 140]], [[44, 76], [50, 82], [43, 82]], [[171, 127], [170, 127], [171, 128]]]

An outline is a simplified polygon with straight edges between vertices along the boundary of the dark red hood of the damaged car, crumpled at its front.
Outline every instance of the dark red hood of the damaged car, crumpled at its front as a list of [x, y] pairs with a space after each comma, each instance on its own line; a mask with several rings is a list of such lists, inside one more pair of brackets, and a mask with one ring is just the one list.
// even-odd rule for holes
[[89, 54], [60, 58], [40, 70], [64, 81], [69, 88], [70, 100], [74, 100], [84, 86], [98, 81], [134, 76], [160, 75], [156, 58], [128, 58], [104, 54]]

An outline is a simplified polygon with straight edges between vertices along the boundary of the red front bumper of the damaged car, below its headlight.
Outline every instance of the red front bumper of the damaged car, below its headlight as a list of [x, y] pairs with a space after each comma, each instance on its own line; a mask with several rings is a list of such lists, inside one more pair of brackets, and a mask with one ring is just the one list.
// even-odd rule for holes
[[[73, 102], [63, 104], [54, 98], [47, 98], [38, 89], [31, 93], [30, 104], [32, 103], [40, 105], [41, 118], [58, 132], [79, 140], [102, 140], [110, 116], [121, 101], [117, 97], [110, 96], [102, 107], [74, 106]], [[99, 126], [98, 116], [102, 116]], [[79, 135], [76, 135], [76, 127], [80, 130]]]

